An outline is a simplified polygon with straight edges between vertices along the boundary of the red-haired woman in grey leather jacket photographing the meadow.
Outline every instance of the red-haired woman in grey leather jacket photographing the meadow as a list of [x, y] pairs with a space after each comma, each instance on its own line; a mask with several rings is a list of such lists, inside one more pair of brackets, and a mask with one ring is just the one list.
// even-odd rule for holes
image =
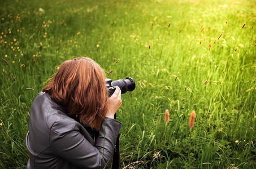
[[[106, 168], [122, 126], [115, 87], [107, 98], [105, 73], [92, 59], [64, 61], [32, 103], [27, 168]], [[95, 141], [82, 124], [98, 131]]]

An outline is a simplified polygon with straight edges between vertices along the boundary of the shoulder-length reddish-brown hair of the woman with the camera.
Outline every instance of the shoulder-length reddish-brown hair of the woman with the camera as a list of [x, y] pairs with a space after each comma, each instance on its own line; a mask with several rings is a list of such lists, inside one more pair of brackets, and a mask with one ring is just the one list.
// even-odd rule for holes
[[64, 61], [44, 88], [70, 117], [99, 130], [107, 113], [105, 73], [88, 57]]

